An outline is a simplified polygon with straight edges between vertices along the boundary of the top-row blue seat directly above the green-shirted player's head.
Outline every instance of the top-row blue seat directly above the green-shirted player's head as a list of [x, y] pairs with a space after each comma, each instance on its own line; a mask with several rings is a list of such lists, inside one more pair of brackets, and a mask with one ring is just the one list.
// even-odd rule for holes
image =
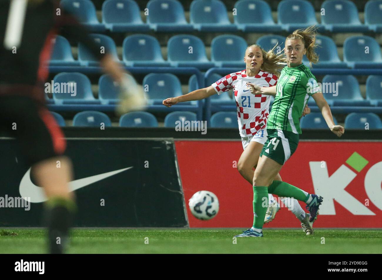
[[281, 1], [277, 6], [277, 22], [287, 32], [311, 25], [317, 29], [321, 27], [317, 23], [312, 4], [305, 0]]

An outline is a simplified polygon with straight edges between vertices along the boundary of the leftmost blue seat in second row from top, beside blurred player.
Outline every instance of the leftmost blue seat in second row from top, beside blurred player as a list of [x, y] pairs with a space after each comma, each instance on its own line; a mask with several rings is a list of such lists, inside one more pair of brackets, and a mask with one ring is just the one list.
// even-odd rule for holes
[[74, 60], [70, 44], [66, 38], [57, 35], [52, 40], [53, 52], [50, 57], [50, 66], [79, 66], [79, 62]]

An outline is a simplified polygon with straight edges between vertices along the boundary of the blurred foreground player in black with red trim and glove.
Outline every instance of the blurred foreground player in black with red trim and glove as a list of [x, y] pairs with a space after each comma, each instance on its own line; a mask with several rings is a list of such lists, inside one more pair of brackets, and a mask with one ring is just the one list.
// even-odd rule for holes
[[52, 52], [52, 39], [61, 34], [81, 42], [99, 59], [105, 72], [121, 85], [125, 99], [123, 106], [118, 107], [120, 113], [141, 109], [144, 104], [138, 87], [126, 78], [112, 56], [101, 53], [88, 32], [58, 8], [58, 1], [53, 0], [0, 2], [1, 129], [16, 137], [37, 184], [44, 188], [48, 198], [45, 211], [50, 253], [65, 251], [76, 208], [68, 186], [73, 181], [72, 165], [63, 155], [66, 141], [45, 106], [44, 83], [49, 75], [46, 64]]

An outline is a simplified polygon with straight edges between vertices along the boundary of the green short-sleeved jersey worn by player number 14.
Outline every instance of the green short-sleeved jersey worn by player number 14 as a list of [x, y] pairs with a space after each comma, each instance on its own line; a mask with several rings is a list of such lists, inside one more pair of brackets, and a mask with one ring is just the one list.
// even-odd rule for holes
[[299, 118], [309, 97], [320, 91], [316, 77], [304, 64], [284, 67], [277, 80], [275, 101], [268, 117], [267, 129], [301, 134]]

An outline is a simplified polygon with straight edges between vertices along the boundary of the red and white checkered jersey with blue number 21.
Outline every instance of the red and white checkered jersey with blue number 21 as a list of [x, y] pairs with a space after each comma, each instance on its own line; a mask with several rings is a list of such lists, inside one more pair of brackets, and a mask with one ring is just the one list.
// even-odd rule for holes
[[248, 82], [259, 86], [274, 86], [277, 84], [277, 76], [260, 70], [254, 77], [248, 77], [246, 70], [242, 70], [212, 84], [218, 94], [233, 89], [241, 137], [252, 136], [263, 130], [269, 115], [270, 95], [252, 94], [246, 85]]

